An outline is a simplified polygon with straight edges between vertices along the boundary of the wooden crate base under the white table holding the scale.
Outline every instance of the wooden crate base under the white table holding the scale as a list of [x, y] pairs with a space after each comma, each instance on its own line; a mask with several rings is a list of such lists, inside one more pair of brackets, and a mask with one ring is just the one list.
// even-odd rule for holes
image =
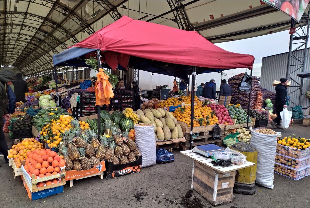
[[236, 171], [219, 174], [193, 161], [192, 188], [213, 206], [232, 202]]

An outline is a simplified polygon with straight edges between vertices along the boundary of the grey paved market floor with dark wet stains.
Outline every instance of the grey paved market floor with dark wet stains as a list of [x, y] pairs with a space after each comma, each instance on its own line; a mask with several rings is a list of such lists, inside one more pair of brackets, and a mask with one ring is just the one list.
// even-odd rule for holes
[[[270, 127], [269, 127], [270, 128]], [[309, 138], [310, 127], [292, 125], [282, 130], [282, 137], [295, 133]], [[8, 141], [9, 142], [9, 141]], [[175, 161], [142, 168], [140, 173], [128, 174], [111, 180], [98, 176], [68, 183], [64, 193], [30, 201], [20, 177], [12, 176], [12, 168], [0, 158], [0, 207], [212, 207], [191, 187], [192, 160], [178, 150]], [[309, 207], [309, 177], [293, 180], [274, 174], [274, 189], [256, 185], [254, 195], [234, 194], [232, 203], [219, 208], [289, 208]]]

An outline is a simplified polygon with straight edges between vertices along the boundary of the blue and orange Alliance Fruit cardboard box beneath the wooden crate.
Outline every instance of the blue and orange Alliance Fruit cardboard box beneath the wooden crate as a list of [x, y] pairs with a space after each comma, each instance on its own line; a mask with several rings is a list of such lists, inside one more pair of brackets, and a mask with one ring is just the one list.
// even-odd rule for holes
[[31, 201], [64, 192], [64, 186], [57, 186], [54, 188], [48, 188], [37, 192], [31, 192], [25, 181], [26, 179], [24, 179], [23, 175], [20, 175], [20, 177], [23, 180], [23, 184], [24, 187], [26, 188], [27, 195]]

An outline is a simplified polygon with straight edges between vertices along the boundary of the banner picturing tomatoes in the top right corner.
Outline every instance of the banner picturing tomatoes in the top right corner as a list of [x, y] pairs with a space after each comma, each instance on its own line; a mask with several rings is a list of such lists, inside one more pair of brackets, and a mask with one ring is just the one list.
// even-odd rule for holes
[[300, 21], [310, 0], [261, 0]]

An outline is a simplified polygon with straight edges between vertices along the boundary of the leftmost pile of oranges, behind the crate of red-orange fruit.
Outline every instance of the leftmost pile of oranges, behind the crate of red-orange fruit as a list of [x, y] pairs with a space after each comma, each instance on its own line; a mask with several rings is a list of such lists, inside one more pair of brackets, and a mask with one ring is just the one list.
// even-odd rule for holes
[[41, 149], [43, 149], [43, 144], [34, 138], [24, 139], [21, 143], [12, 146], [12, 149], [9, 150], [8, 158], [14, 158], [16, 167], [21, 167], [21, 162], [27, 158], [27, 153], [30, 154], [35, 150]]

